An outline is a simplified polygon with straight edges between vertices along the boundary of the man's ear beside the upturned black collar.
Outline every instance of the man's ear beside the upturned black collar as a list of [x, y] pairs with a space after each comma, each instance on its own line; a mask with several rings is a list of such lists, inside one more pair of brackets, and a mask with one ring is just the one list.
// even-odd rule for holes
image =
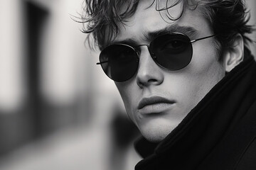
[[244, 42], [242, 40], [242, 35], [240, 35], [240, 33], [235, 35], [233, 45], [227, 50], [225, 50], [223, 57], [223, 64], [225, 66], [226, 72], [230, 72], [240, 62], [242, 62], [244, 57]]

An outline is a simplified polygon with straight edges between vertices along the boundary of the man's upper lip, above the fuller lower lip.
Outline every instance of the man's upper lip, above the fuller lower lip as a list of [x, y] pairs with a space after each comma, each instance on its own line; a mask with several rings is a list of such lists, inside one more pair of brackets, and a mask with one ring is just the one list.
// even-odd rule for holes
[[139, 101], [138, 109], [142, 109], [145, 106], [151, 106], [157, 103], [170, 103], [173, 104], [175, 101], [169, 100], [167, 98], [163, 98], [161, 96], [152, 96], [149, 98], [142, 98], [141, 101]]

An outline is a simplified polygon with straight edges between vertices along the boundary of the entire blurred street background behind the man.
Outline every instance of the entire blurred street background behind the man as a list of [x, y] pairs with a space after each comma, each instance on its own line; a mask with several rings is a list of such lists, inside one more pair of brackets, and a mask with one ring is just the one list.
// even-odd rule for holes
[[[256, 1], [246, 3], [255, 24]], [[72, 19], [81, 12], [82, 0], [0, 0], [1, 170], [128, 170], [141, 159], [139, 132]]]

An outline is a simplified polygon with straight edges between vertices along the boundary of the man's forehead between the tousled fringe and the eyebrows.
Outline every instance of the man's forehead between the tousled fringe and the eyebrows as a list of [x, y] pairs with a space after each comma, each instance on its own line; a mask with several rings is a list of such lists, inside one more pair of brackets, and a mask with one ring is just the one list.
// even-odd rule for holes
[[[183, 3], [181, 2], [168, 10], [159, 10], [166, 8], [166, 3], [163, 2], [166, 1], [154, 1], [154, 4], [151, 5], [152, 1], [140, 1], [134, 15], [127, 18], [124, 25], [119, 25], [120, 31], [113, 41], [125, 39], [142, 41], [149, 33], [171, 26], [174, 26], [174, 28], [189, 27], [198, 32], [203, 29], [210, 29], [206, 18], [203, 18], [198, 9], [183, 9]], [[173, 3], [174, 1], [169, 1], [167, 6], [171, 6]], [[179, 18], [182, 12], [183, 15]], [[175, 31], [180, 32], [177, 29]]]

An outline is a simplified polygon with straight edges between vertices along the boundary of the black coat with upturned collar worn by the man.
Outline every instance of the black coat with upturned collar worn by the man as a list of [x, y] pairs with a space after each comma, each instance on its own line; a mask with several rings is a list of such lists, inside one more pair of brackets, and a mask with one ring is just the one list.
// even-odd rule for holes
[[245, 55], [163, 141], [136, 142], [136, 170], [256, 170], [256, 64]]

